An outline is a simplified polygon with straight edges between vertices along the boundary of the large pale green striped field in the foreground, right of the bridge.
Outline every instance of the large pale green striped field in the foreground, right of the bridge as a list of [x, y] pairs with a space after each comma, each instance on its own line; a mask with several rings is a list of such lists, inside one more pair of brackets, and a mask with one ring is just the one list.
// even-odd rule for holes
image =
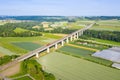
[[45, 71], [53, 73], [57, 80], [120, 79], [120, 70], [58, 52], [40, 57], [37, 61]]

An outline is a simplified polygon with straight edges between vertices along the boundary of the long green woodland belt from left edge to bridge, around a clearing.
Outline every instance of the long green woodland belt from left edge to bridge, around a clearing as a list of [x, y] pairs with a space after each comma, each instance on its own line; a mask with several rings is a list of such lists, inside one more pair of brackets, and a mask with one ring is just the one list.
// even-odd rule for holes
[[[64, 33], [70, 34], [76, 29], [68, 29], [57, 27], [53, 30], [45, 30], [44, 27], [40, 27], [39, 29], [32, 28], [35, 25], [40, 25], [40, 22], [21, 22], [21, 23], [7, 23], [4, 25], [0, 25], [0, 37], [31, 37], [31, 36], [42, 36], [40, 32], [48, 32], [48, 33]], [[17, 33], [14, 30], [16, 28], [26, 29], [28, 31], [24, 31], [21, 33]]]

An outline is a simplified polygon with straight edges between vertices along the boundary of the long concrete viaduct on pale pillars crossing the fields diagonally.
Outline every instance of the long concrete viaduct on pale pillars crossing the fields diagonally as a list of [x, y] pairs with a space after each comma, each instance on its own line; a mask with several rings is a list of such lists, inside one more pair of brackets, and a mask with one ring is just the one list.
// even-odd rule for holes
[[92, 27], [94, 24], [95, 24], [95, 23], [92, 23], [92, 24], [90, 24], [90, 25], [87, 25], [85, 28], [80, 29], [80, 30], [77, 30], [77, 31], [75, 31], [75, 32], [73, 32], [73, 33], [65, 36], [64, 38], [62, 38], [62, 39], [60, 39], [60, 40], [54, 41], [54, 42], [52, 42], [52, 43], [50, 43], [50, 44], [48, 44], [48, 45], [45, 45], [45, 46], [43, 46], [43, 47], [40, 47], [40, 48], [38, 48], [38, 49], [36, 49], [36, 50], [33, 50], [33, 51], [25, 54], [25, 55], [23, 55], [23, 56], [20, 56], [20, 57], [16, 58], [14, 61], [8, 63], [7, 65], [1, 66], [1, 67], [0, 67], [0, 71], [1, 71], [1, 70], [4, 70], [4, 69], [7, 69], [8, 67], [10, 67], [10, 66], [12, 66], [12, 65], [14, 65], [14, 64], [16, 64], [16, 63], [18, 63], [18, 62], [20, 62], [20, 61], [23, 61], [23, 60], [25, 60], [25, 59], [28, 59], [28, 58], [30, 58], [30, 57], [32, 57], [32, 56], [35, 56], [35, 55], [36, 55], [36, 57], [39, 57], [39, 54], [40, 54], [41, 52], [45, 51], [45, 50], [47, 51], [47, 53], [49, 53], [49, 52], [50, 52], [50, 48], [51, 48], [51, 47], [55, 47], [55, 49], [57, 49], [57, 48], [58, 48], [58, 44], [61, 44], [61, 46], [64, 46], [64, 43], [68, 43], [69, 41], [73, 41], [73, 40], [78, 39], [79, 36], [83, 35], [83, 32], [84, 32], [85, 30], [89, 29], [89, 28]]

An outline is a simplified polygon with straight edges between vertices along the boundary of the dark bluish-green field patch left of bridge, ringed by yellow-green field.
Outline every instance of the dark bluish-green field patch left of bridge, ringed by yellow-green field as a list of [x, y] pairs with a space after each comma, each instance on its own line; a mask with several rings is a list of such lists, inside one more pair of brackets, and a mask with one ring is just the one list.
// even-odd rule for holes
[[40, 48], [42, 45], [36, 44], [36, 43], [32, 43], [32, 42], [16, 42], [16, 43], [12, 43], [20, 48], [23, 48], [25, 50], [35, 50], [37, 48]]

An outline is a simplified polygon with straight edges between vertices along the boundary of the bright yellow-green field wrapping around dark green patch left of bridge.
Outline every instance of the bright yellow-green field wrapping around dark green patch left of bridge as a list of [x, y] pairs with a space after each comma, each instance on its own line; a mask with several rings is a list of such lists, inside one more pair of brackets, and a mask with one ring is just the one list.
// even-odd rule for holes
[[25, 54], [29, 51], [29, 49], [26, 48], [23, 49], [24, 47], [21, 48], [20, 46], [18, 45], [16, 46], [12, 43], [31, 42], [31, 43], [36, 43], [38, 45], [46, 45], [62, 37], [63, 36], [57, 36], [50, 33], [43, 33], [43, 36], [37, 36], [37, 37], [0, 37], [0, 46], [16, 54]]

